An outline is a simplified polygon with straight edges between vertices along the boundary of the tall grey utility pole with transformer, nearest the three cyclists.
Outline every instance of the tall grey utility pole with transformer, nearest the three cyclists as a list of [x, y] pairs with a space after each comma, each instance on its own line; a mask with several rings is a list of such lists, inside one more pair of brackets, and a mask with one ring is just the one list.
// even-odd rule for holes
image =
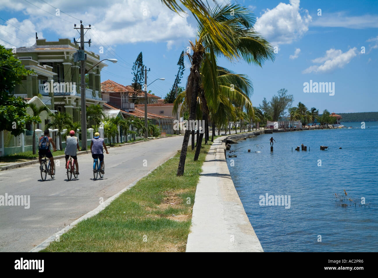
[[[91, 29], [91, 25], [89, 25], [89, 28], [84, 28], [83, 21], [80, 20], [80, 28], [76, 27], [76, 24], [74, 24], [74, 29], [80, 29], [80, 47], [79, 50], [77, 50], [75, 62], [80, 61], [80, 77], [81, 77], [81, 86], [80, 86], [80, 94], [81, 94], [81, 150], [85, 151], [87, 150], [87, 108], [85, 105], [85, 60], [86, 60], [86, 54], [84, 52], [84, 44], [88, 43], [89, 46], [91, 46], [91, 40], [84, 41], [84, 29]], [[77, 41], [74, 39], [74, 43], [76, 45]]]

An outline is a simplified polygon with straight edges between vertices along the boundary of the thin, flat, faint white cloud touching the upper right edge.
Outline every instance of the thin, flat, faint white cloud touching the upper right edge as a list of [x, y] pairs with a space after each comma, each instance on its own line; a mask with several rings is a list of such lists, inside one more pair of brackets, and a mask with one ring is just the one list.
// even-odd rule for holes
[[323, 13], [316, 17], [311, 26], [344, 27], [350, 29], [366, 29], [378, 27], [377, 15], [348, 16], [346, 12]]

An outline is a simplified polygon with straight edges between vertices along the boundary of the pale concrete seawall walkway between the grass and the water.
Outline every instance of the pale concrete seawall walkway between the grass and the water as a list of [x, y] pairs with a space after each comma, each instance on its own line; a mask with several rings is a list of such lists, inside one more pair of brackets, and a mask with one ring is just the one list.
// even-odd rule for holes
[[202, 166], [186, 252], [263, 252], [232, 182], [221, 140], [214, 140]]

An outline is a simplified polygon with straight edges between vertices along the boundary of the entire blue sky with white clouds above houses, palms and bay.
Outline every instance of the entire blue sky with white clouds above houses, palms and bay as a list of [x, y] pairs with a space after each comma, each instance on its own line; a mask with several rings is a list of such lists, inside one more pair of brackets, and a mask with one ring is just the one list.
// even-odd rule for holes
[[[235, 1], [232, 1], [234, 3]], [[79, 3], [79, 5], [78, 5]], [[209, 1], [211, 3], [211, 1]], [[218, 3], [227, 3], [218, 1]], [[255, 28], [273, 46], [276, 60], [260, 68], [243, 61], [218, 64], [253, 81], [254, 106], [268, 100], [281, 88], [308, 108], [330, 112], [377, 111], [378, 5], [376, 1], [239, 1], [257, 17]], [[34, 5], [32, 5], [34, 4]], [[50, 4], [50, 5], [48, 5]], [[38, 8], [37, 8], [38, 7]], [[53, 8], [54, 7], [54, 8]], [[56, 8], [60, 15], [56, 16]], [[43, 11], [43, 10], [44, 11]], [[321, 16], [318, 15], [321, 9]], [[49, 13], [53, 14], [49, 14]], [[67, 14], [71, 15], [68, 16]], [[7, 47], [30, 46], [39, 38], [78, 38], [73, 23], [82, 19], [93, 29], [87, 33], [90, 50], [101, 58], [117, 58], [102, 71], [101, 80], [131, 84], [132, 63], [139, 52], [147, 68], [148, 90], [164, 98], [177, 73], [177, 61], [188, 41], [195, 40], [196, 22], [179, 16], [159, 0], [0, 0], [0, 43]], [[74, 18], [73, 18], [74, 17]], [[75, 19], [77, 18], [77, 19]], [[6, 21], [4, 21], [6, 20]], [[88, 46], [86, 46], [88, 47]], [[365, 53], [361, 53], [365, 47]], [[189, 61], [181, 86], [189, 74]], [[304, 93], [304, 82], [334, 82], [335, 95]]]

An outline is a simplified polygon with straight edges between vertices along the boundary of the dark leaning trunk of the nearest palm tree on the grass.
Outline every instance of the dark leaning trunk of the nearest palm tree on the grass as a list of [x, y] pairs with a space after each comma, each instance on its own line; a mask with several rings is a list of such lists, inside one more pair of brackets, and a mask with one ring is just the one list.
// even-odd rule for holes
[[[192, 81], [192, 95], [191, 95], [191, 103], [190, 103], [189, 121], [195, 119], [195, 108], [197, 106], [200, 63], [201, 63], [200, 52], [194, 52], [192, 56], [193, 66], [191, 67], [191, 73], [189, 75], [189, 78], [191, 79], [190, 81]], [[178, 168], [177, 168], [177, 176], [183, 176], [184, 174], [185, 159], [186, 159], [186, 152], [187, 152], [187, 147], [189, 143], [189, 137], [190, 137], [190, 130], [187, 129], [185, 130], [183, 146], [181, 147], [180, 162], [178, 163]], [[192, 137], [192, 147], [194, 148], [194, 137]]]

